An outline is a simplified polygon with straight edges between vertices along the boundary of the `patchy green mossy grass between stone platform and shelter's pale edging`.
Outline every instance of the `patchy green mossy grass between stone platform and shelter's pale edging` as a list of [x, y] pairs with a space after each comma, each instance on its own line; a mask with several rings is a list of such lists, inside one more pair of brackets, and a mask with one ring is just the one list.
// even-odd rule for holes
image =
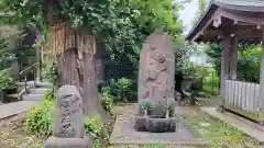
[[257, 141], [240, 132], [238, 128], [228, 125], [219, 119], [199, 113], [197, 115], [187, 115], [184, 118], [186, 125], [195, 128], [200, 138], [210, 141], [210, 147], [226, 145], [232, 147], [251, 147], [255, 148]]

